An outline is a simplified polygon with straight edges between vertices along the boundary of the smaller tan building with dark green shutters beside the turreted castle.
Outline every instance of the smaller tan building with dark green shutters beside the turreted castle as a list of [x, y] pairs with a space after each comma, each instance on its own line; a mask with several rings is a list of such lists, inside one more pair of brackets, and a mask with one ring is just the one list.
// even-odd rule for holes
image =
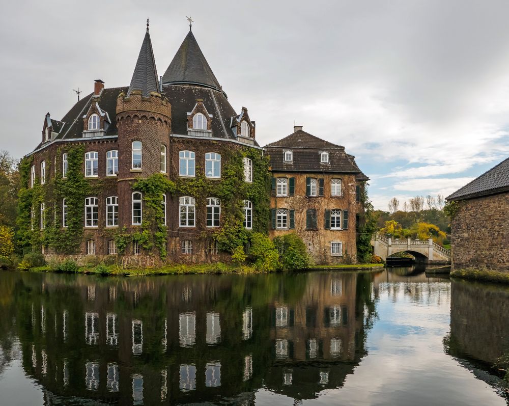
[[369, 179], [354, 156], [301, 126], [264, 149], [272, 172], [269, 235], [296, 232], [317, 263], [355, 262], [360, 197]]

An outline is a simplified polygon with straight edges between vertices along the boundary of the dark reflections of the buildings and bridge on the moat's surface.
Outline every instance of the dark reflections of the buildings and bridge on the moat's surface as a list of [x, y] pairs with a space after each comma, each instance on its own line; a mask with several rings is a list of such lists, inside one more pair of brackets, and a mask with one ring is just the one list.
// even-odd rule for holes
[[435, 281], [443, 279], [404, 270], [139, 279], [2, 273], [0, 383], [2, 356], [17, 345], [47, 404], [248, 405], [261, 390], [296, 404], [321, 399], [364, 363], [381, 295], [430, 309], [450, 300], [448, 353], [493, 363], [509, 347], [507, 290]]

